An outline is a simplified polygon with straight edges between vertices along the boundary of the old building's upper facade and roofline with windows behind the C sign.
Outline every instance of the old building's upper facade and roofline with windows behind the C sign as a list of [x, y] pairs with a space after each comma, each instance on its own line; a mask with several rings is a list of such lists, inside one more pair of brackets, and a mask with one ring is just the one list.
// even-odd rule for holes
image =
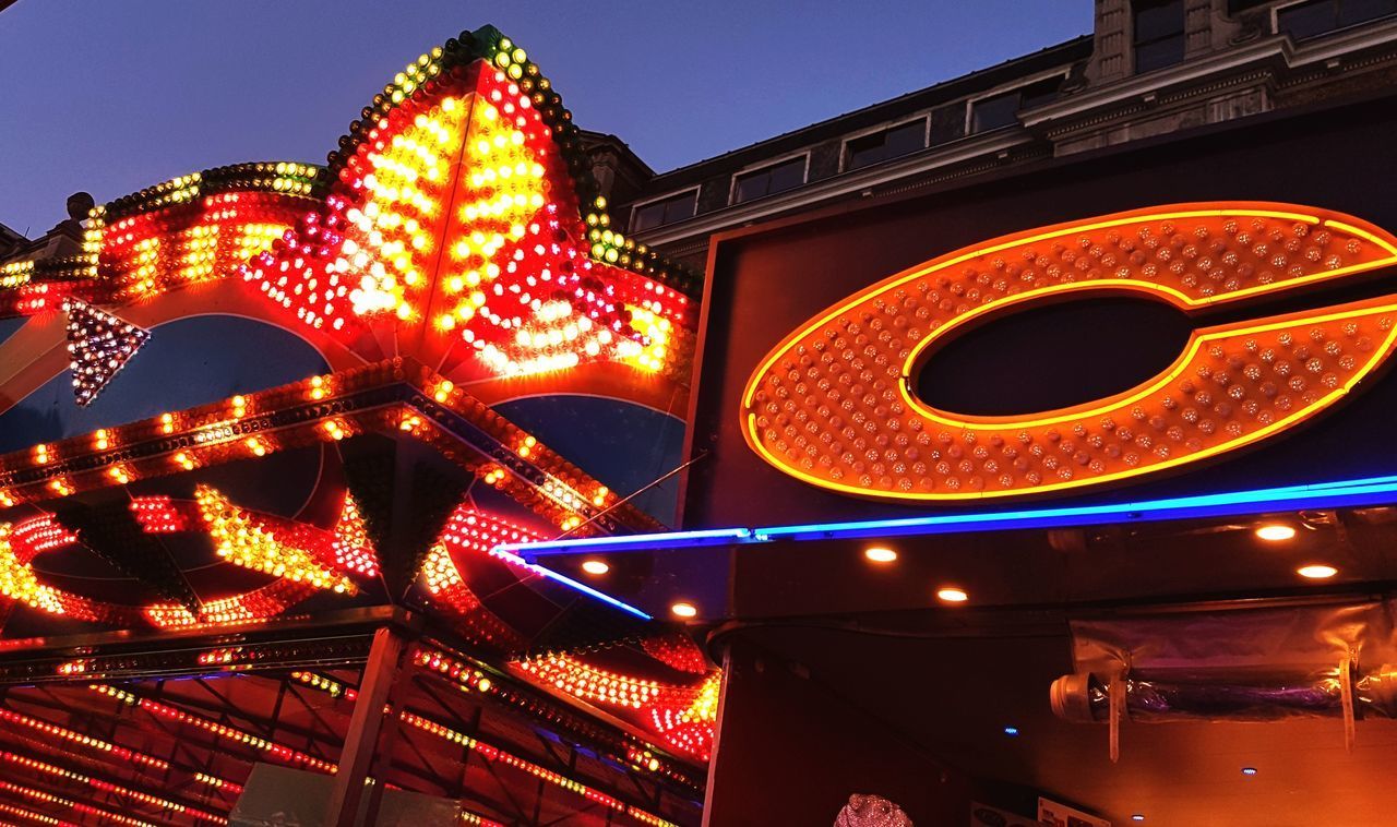
[[701, 270], [728, 229], [1393, 80], [1397, 0], [1095, 0], [1088, 35], [679, 169], [592, 144], [617, 229]]

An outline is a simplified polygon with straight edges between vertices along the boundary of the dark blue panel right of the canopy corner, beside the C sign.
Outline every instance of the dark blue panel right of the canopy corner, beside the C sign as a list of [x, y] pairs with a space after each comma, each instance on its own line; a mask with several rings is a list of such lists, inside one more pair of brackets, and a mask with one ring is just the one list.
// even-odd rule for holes
[[[496, 405], [502, 416], [529, 432], [570, 462], [626, 496], [679, 465], [685, 423], [673, 416], [601, 397], [528, 397]], [[673, 525], [678, 476], [631, 503]]]

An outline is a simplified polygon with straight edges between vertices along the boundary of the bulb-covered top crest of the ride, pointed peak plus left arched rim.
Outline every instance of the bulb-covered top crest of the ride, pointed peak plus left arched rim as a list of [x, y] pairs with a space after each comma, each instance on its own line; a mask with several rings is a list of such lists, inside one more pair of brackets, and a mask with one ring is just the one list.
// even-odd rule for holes
[[[460, 159], [458, 145], [472, 152], [461, 165], [472, 170], [467, 187], [457, 186], [448, 163]], [[462, 32], [422, 54], [339, 147], [324, 169], [285, 162], [211, 169], [96, 207], [82, 256], [63, 268], [7, 264], [0, 288], [13, 288], [17, 305], [43, 307], [57, 296], [39, 293], [50, 282], [35, 278], [61, 274], [80, 277], [88, 299], [149, 298], [224, 278], [231, 263], [251, 260], [249, 278], [317, 328], [355, 328], [353, 316], [374, 313], [393, 323], [430, 317], [503, 373], [597, 356], [683, 373], [692, 345], [671, 341], [685, 334], [672, 337], [664, 325], [683, 319], [698, 279], [610, 229], [571, 113], [497, 31]], [[461, 215], [440, 215], [455, 207]], [[441, 291], [430, 300], [416, 295], [429, 279], [412, 264], [440, 261], [432, 247], [448, 246], [439, 240], [448, 229], [464, 265], [446, 285], [461, 293], [454, 307]], [[493, 285], [481, 284], [482, 272]], [[569, 319], [574, 314], [598, 324], [588, 330]]]

